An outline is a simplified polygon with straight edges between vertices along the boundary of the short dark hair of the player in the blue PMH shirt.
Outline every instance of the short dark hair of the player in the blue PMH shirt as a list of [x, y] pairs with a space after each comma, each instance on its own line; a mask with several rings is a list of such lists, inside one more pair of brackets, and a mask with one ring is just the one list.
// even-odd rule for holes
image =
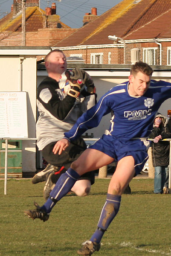
[[133, 64], [130, 69], [130, 74], [134, 76], [138, 72], [142, 72], [143, 74], [145, 74], [147, 76], [151, 76], [153, 73], [153, 69], [145, 62], [136, 61], [136, 63]]

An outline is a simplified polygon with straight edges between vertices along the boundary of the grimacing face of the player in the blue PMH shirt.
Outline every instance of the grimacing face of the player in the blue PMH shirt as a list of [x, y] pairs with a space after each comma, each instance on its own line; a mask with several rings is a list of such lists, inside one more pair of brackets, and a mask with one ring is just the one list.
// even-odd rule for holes
[[142, 72], [138, 72], [136, 75], [129, 76], [129, 88], [128, 93], [131, 96], [142, 96], [150, 86], [151, 76], [147, 76]]

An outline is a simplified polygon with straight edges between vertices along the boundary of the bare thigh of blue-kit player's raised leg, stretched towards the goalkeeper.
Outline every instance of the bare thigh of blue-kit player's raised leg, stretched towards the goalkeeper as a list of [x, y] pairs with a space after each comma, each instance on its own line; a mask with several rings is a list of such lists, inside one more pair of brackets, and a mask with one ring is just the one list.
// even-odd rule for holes
[[79, 175], [83, 175], [86, 172], [94, 171], [112, 162], [113, 157], [99, 150], [87, 148], [81, 156], [71, 164], [71, 167], [78, 172]]

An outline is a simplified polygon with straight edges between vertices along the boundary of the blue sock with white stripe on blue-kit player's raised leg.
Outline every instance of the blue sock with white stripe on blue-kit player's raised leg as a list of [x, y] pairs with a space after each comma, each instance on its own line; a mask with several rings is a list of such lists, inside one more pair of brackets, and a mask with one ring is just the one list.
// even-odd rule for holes
[[63, 173], [59, 177], [55, 187], [50, 192], [49, 198], [46, 203], [43, 204], [41, 209], [45, 210], [47, 213], [51, 212], [55, 204], [71, 190], [79, 177], [80, 175], [78, 175], [72, 168], [69, 168]]

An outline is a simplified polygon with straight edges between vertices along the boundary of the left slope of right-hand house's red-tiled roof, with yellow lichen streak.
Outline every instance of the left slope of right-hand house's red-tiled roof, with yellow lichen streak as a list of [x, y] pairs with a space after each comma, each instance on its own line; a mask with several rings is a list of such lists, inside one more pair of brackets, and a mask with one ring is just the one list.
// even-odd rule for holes
[[135, 0], [123, 0], [96, 20], [60, 41], [55, 47], [110, 44], [111, 41], [107, 38], [108, 35], [124, 36], [154, 1], [156, 0], [141, 0], [135, 4]]

